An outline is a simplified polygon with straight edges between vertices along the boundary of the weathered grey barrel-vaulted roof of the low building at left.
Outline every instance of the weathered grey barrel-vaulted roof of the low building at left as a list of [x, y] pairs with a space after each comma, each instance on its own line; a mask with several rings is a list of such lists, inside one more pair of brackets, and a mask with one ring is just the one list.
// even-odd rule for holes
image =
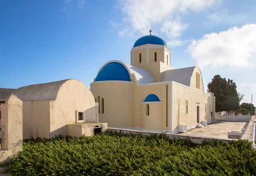
[[58, 90], [64, 82], [67, 80], [61, 80], [56, 82], [48, 82], [44, 84], [35, 84], [21, 87], [12, 92], [21, 101], [43, 101], [43, 100], [55, 100], [58, 94]]

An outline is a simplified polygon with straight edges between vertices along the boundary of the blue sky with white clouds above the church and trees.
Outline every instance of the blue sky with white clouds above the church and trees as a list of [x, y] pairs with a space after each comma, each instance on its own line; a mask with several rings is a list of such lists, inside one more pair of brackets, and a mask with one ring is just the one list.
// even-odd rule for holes
[[78, 79], [88, 88], [110, 60], [130, 64], [135, 41], [152, 34], [174, 68], [201, 68], [236, 82], [256, 104], [255, 0], [0, 0], [0, 87]]

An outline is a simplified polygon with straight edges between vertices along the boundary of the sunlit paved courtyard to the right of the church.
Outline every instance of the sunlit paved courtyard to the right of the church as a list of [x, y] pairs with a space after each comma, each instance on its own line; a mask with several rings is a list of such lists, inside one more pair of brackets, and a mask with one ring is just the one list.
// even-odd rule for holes
[[194, 128], [186, 131], [185, 133], [179, 133], [180, 135], [192, 135], [192, 136], [207, 136], [214, 138], [226, 138], [228, 131], [241, 131], [246, 128], [249, 122], [226, 122], [216, 121], [210, 123], [203, 128]]

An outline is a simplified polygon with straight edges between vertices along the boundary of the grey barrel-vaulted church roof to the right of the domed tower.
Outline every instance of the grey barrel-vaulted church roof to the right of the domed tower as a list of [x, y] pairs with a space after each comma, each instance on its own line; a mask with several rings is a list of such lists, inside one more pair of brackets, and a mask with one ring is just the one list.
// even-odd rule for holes
[[175, 81], [183, 85], [190, 86], [191, 77], [195, 67], [179, 68], [168, 70], [163, 75], [163, 82]]

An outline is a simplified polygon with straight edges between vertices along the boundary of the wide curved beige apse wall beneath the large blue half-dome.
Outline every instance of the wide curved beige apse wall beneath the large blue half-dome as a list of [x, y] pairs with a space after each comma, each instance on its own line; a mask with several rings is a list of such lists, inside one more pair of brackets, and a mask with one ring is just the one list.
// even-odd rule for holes
[[134, 82], [105, 81], [90, 87], [97, 102], [98, 96], [104, 98], [104, 114], [101, 111], [99, 122], [107, 122], [112, 128], [134, 128]]

